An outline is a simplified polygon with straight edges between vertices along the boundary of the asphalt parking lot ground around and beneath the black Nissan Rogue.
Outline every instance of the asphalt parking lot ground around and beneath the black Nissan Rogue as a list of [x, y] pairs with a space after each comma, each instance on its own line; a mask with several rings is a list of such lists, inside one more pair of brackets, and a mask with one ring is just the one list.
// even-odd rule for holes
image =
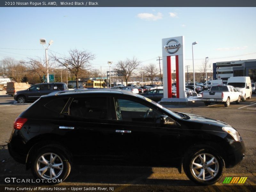
[[[9, 155], [6, 143], [13, 129], [12, 124], [15, 118], [29, 105], [13, 105], [13, 98], [7, 95], [0, 95], [0, 184], [14, 185], [17, 183], [5, 183], [6, 177], [16, 177], [20, 179], [32, 179], [30, 170], [25, 170], [25, 165], [16, 163]], [[255, 145], [255, 115], [256, 115], [256, 95], [252, 99], [240, 104], [231, 103], [229, 107], [223, 104], [211, 104], [204, 106], [203, 102], [195, 102], [191, 106], [166, 106], [173, 111], [186, 112], [200, 116], [224, 121], [236, 128], [243, 137], [246, 155], [244, 160], [234, 168], [228, 168], [224, 172], [223, 178], [215, 185], [216, 188], [225, 185], [226, 189], [232, 191], [244, 189], [247, 186], [249, 191], [255, 191], [256, 185], [256, 145]], [[223, 184], [226, 177], [248, 177], [244, 184], [235, 186]], [[20, 185], [20, 184], [19, 184]], [[185, 173], [181, 174], [176, 168], [158, 167], [111, 167], [111, 166], [77, 166], [72, 169], [70, 176], [65, 182], [59, 185], [117, 185], [115, 191], [122, 191], [134, 185], [142, 185], [150, 191], [171, 189], [172, 186], [180, 186], [180, 191], [184, 191], [186, 186], [195, 184], [188, 180]], [[163, 187], [165, 186], [165, 187]], [[166, 187], [167, 186], [167, 187]], [[206, 189], [210, 190], [210, 187]]]

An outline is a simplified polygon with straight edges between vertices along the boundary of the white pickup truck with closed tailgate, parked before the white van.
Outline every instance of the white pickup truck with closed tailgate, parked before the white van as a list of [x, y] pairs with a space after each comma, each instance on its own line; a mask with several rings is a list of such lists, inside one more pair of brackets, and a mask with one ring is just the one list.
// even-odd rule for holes
[[224, 106], [228, 107], [230, 102], [233, 101], [239, 104], [241, 98], [241, 93], [230, 85], [214, 85], [211, 87], [210, 91], [204, 91], [202, 94], [202, 101], [204, 101], [206, 106], [214, 102], [224, 103]]

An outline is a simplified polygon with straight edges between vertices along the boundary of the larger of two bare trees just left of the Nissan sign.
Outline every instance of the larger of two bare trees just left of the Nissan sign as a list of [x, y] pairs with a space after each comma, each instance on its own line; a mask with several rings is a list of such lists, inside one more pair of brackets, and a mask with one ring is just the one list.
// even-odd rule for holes
[[118, 74], [124, 76], [126, 81], [126, 86], [128, 85], [128, 79], [132, 76], [135, 69], [140, 66], [140, 61], [137, 58], [133, 57], [132, 59], [126, 59], [124, 61], [118, 61], [118, 63], [114, 66], [114, 69], [118, 72]]

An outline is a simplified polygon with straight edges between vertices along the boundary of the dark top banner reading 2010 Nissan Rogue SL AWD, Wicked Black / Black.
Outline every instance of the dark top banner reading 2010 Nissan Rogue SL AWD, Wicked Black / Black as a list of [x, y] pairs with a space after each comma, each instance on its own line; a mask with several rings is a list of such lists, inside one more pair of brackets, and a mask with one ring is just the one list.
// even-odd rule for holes
[[0, 7], [255, 7], [255, 0], [0, 1]]

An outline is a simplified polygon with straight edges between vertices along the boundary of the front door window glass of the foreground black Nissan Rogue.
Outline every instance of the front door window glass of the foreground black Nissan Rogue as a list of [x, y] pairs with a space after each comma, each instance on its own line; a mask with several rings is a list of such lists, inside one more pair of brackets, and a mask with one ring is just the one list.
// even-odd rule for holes
[[116, 99], [115, 98], [116, 117], [119, 121], [132, 121], [132, 122], [154, 122], [160, 118], [162, 113], [149, 108], [141, 103]]

